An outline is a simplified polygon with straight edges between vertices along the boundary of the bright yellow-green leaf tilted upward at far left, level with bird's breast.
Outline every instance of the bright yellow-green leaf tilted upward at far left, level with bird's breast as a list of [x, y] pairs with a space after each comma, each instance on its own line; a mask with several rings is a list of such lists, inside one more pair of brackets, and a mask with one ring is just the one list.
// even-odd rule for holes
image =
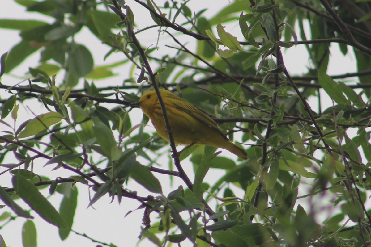
[[59, 112], [40, 114], [39, 116], [28, 120], [26, 128], [19, 133], [18, 138], [39, 134], [41, 131], [46, 130], [46, 128], [58, 123], [60, 120], [62, 120], [62, 115]]

